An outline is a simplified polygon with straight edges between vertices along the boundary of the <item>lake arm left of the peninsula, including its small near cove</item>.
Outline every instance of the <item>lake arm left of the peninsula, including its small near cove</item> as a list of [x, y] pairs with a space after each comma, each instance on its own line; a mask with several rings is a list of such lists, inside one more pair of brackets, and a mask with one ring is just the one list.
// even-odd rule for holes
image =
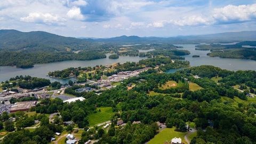
[[66, 79], [57, 79], [51, 78], [48, 75], [49, 71], [54, 70], [63, 70], [69, 67], [93, 67], [96, 65], [106, 65], [113, 63], [124, 63], [127, 61], [137, 62], [142, 59], [141, 57], [129, 57], [129, 56], [119, 56], [119, 59], [109, 59], [108, 56], [110, 54], [106, 54], [107, 58], [97, 59], [97, 60], [68, 60], [68, 61], [60, 61], [60, 62], [52, 62], [45, 64], [34, 65], [33, 68], [21, 69], [11, 66], [0, 66], [0, 82], [9, 80], [11, 77], [15, 77], [17, 75], [30, 75], [33, 77], [41, 77], [50, 79], [51, 82], [58, 81], [61, 83], [67, 83], [69, 79], [75, 80], [76, 78], [66, 78]]

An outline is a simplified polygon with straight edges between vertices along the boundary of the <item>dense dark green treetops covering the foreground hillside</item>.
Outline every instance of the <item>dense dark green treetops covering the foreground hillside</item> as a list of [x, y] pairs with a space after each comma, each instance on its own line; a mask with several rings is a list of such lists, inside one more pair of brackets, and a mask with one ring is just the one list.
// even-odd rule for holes
[[[200, 78], [195, 78], [195, 75]], [[214, 82], [213, 77], [222, 79]], [[178, 85], [164, 89], [167, 93], [158, 91], [156, 95], [149, 95], [149, 92], [157, 91], [168, 81], [175, 81]], [[246, 84], [247, 81], [250, 83]], [[127, 90], [130, 83], [135, 86]], [[203, 89], [190, 91], [187, 86], [189, 83], [196, 83]], [[90, 114], [96, 113], [97, 107], [112, 107], [115, 114], [111, 118], [113, 124], [109, 130], [103, 132], [99, 127], [94, 127], [84, 131], [78, 143], [89, 139], [99, 139], [97, 143], [145, 143], [156, 134], [157, 121], [166, 123], [167, 127], [175, 127], [178, 131], [182, 131], [182, 125], [186, 122], [195, 122], [198, 132], [191, 143], [255, 143], [256, 100], [247, 98], [247, 91], [241, 92], [233, 87], [243, 84], [246, 86], [244, 89], [249, 89], [255, 83], [256, 71], [250, 70], [228, 71], [213, 66], [200, 66], [166, 74], [149, 69], [138, 77], [125, 79], [121, 85], [103, 91], [100, 95], [83, 93], [82, 96], [86, 98], [84, 101], [69, 104], [60, 99], [46, 99], [31, 110], [41, 114], [60, 112], [60, 121], [56, 120], [55, 125], [73, 121], [79, 128], [85, 127], [87, 130], [86, 127], [90, 125], [87, 119]], [[180, 87], [179, 91], [175, 90], [177, 87]], [[173, 98], [172, 94], [177, 92], [183, 93], [181, 98]], [[115, 127], [117, 118], [123, 119], [126, 126]], [[141, 121], [141, 124], [132, 124], [133, 121]], [[51, 132], [42, 131], [47, 130], [45, 127], [47, 124], [40, 126], [36, 132], [18, 130], [5, 137], [3, 142], [24, 143], [26, 140], [46, 143], [49, 140], [47, 135], [52, 135]], [[93, 137], [90, 136], [92, 134]], [[37, 135], [45, 140], [37, 140]]]

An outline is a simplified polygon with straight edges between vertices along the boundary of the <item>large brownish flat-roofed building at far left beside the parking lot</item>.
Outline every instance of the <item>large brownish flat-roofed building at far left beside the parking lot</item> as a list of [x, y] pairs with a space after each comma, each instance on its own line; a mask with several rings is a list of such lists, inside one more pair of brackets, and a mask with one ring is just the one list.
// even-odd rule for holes
[[31, 107], [36, 106], [36, 101], [21, 101], [16, 102], [10, 110], [10, 113], [14, 113], [15, 111], [26, 111], [29, 110]]

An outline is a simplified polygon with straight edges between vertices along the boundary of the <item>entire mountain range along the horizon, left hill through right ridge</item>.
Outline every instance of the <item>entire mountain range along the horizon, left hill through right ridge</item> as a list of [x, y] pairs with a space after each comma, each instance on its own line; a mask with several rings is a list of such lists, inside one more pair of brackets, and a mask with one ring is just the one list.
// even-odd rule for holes
[[44, 31], [21, 32], [18, 30], [0, 30], [0, 50], [40, 50], [40, 51], [67, 51], [90, 49], [100, 43], [230, 43], [256, 41], [256, 31], [241, 31], [198, 36], [176, 37], [139, 37], [119, 36], [112, 38], [74, 38], [64, 37]]

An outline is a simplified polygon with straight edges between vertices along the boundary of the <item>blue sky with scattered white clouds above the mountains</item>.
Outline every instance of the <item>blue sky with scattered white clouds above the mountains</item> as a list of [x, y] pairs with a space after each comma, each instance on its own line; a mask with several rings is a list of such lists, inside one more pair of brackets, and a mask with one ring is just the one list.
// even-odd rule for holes
[[1, 0], [0, 29], [98, 38], [250, 31], [256, 1]]

